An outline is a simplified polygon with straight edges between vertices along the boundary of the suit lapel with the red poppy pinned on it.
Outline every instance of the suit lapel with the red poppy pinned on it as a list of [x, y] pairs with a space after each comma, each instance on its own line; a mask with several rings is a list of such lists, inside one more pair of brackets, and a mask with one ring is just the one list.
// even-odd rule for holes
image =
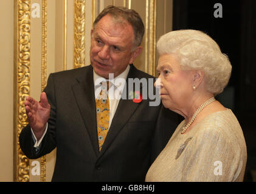
[[[111, 126], [109, 128], [108, 135], [106, 136], [106, 140], [102, 146], [102, 150], [100, 151], [100, 155], [103, 155], [103, 153], [108, 149], [108, 147], [111, 145], [111, 143], [114, 141], [120, 130], [122, 130], [123, 126], [126, 124], [126, 122], [129, 121], [137, 107], [139, 107], [140, 103], [133, 102], [133, 99], [128, 99], [128, 96], [130, 94], [130, 91], [128, 91], [128, 78], [136, 78], [136, 68], [131, 65], [130, 72], [128, 73], [128, 76], [126, 78], [126, 99], [120, 99], [119, 104], [117, 106], [116, 113], [114, 115], [114, 118], [112, 119]], [[137, 77], [140, 79], [140, 77]], [[142, 85], [140, 86], [140, 90], [142, 89]], [[134, 92], [134, 91], [133, 91]], [[142, 93], [140, 91], [140, 93]]]

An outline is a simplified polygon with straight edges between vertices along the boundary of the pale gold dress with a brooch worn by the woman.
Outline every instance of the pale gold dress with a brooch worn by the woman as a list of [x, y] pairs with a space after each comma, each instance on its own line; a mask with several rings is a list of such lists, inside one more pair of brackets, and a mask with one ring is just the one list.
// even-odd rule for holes
[[246, 143], [232, 110], [212, 113], [181, 135], [184, 122], [151, 165], [145, 181], [243, 181]]

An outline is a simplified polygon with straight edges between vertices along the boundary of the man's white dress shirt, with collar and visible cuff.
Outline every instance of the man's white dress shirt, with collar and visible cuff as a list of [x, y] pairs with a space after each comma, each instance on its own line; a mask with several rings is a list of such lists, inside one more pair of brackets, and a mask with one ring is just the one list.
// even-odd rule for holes
[[[119, 104], [119, 100], [122, 96], [123, 88], [125, 86], [125, 81], [129, 73], [129, 70], [130, 70], [130, 65], [128, 65], [125, 71], [123, 71], [123, 73], [121, 73], [119, 76], [117, 76], [116, 78], [111, 78], [111, 76], [109, 76], [110, 77], [109, 79], [102, 78], [101, 76], [97, 75], [97, 73], [95, 73], [93, 70], [95, 99], [97, 98], [100, 91], [102, 90], [102, 85], [100, 84], [100, 82], [102, 82], [103, 80], [109, 81], [109, 90], [108, 90], [109, 127], [108, 128], [110, 128], [112, 119], [114, 118], [114, 115], [116, 113], [117, 105]], [[33, 141], [35, 142], [34, 144], [35, 148], [38, 148], [40, 146], [41, 141], [43, 140], [44, 135], [47, 132], [47, 128], [48, 128], [48, 122], [46, 124], [46, 130], [44, 130], [44, 133], [39, 140], [36, 139], [35, 134], [33, 133], [33, 130], [31, 128], [32, 138], [33, 138]]]

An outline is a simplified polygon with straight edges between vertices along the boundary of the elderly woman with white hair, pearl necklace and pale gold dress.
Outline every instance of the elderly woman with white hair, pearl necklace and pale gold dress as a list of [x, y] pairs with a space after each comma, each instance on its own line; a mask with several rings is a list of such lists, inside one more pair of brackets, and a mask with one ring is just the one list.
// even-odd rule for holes
[[243, 181], [243, 131], [234, 113], [214, 98], [229, 81], [229, 59], [198, 30], [165, 34], [157, 51], [155, 86], [164, 106], [184, 121], [151, 165], [146, 181]]

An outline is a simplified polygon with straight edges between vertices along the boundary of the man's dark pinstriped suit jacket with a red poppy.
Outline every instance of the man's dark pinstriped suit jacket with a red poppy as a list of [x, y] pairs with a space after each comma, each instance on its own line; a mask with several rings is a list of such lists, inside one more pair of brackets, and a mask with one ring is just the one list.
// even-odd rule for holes
[[[131, 65], [128, 78], [153, 77]], [[178, 124], [176, 114], [162, 105], [150, 107], [149, 99], [140, 103], [120, 99], [99, 152], [91, 65], [50, 74], [44, 92], [51, 111], [40, 151], [33, 148], [29, 125], [22, 130], [19, 144], [30, 159], [57, 147], [52, 181], [144, 181]]]

